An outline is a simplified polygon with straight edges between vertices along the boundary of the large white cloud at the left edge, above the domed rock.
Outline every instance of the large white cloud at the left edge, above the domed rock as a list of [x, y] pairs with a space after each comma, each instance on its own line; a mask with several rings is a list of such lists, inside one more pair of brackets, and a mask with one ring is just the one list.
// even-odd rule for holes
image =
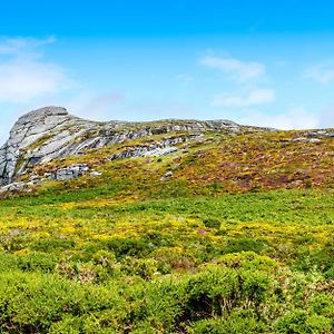
[[53, 38], [0, 40], [0, 102], [22, 104], [67, 89], [71, 80], [66, 70], [45, 61], [37, 51]]

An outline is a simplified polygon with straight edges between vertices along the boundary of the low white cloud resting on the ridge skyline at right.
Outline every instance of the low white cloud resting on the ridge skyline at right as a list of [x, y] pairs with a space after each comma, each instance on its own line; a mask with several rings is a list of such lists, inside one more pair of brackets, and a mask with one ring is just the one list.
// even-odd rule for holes
[[239, 121], [245, 125], [272, 127], [276, 129], [314, 129], [320, 126], [318, 116], [303, 107], [296, 107], [284, 114], [268, 115], [261, 111], [248, 110]]

